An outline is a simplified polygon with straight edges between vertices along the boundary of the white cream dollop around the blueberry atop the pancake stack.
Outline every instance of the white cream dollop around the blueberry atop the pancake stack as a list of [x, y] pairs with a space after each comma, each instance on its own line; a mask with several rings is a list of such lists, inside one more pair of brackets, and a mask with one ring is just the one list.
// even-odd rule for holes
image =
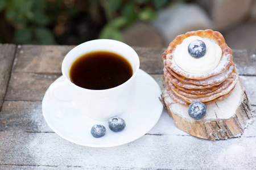
[[[188, 45], [193, 40], [202, 40], [206, 45], [204, 57], [194, 58], [188, 53]], [[176, 46], [174, 60], [181, 69], [188, 73], [207, 73], [215, 69], [220, 62], [222, 50], [220, 46], [208, 39], [199, 36], [187, 37]]]

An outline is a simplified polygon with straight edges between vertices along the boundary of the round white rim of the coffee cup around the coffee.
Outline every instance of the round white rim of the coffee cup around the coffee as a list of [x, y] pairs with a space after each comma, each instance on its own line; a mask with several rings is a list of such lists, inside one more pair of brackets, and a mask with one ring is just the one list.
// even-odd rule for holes
[[[77, 86], [76, 84], [72, 83], [71, 80], [69, 79], [69, 75], [65, 74], [65, 70], [66, 68], [64, 68], [64, 63], [65, 63], [65, 58], [68, 57], [74, 50], [76, 50], [77, 48], [79, 48], [80, 46], [84, 46], [85, 44], [88, 44], [88, 43], [92, 43], [92, 42], [113, 42], [113, 43], [117, 43], [119, 45], [122, 45], [123, 47], [131, 50], [131, 52], [135, 55], [135, 62], [136, 62], [136, 67], [134, 68], [133, 67], [133, 75], [131, 76], [130, 79], [128, 79], [126, 82], [120, 84], [119, 86], [116, 86], [116, 87], [113, 87], [113, 88], [107, 88], [107, 89], [104, 89], [104, 90], [92, 90], [92, 89], [88, 89], [88, 88], [82, 88], [80, 86]], [[100, 48], [98, 49], [99, 51], [101, 50]], [[107, 50], [106, 50], [107, 51]], [[88, 52], [85, 52], [84, 54], [86, 53], [89, 53]], [[78, 58], [80, 56], [77, 56], [76, 58]], [[131, 46], [121, 42], [121, 41], [117, 41], [117, 40], [110, 40], [110, 39], [96, 39], [96, 40], [90, 40], [90, 41], [86, 41], [86, 42], [83, 42], [82, 44], [79, 44], [77, 46], [75, 46], [75, 48], [71, 49], [67, 55], [65, 56], [65, 58], [63, 59], [63, 63], [61, 65], [61, 72], [65, 78], [65, 80], [67, 80], [69, 82], [69, 84], [71, 84], [72, 87], [74, 88], [77, 88], [77, 90], [82, 90], [82, 91], [86, 91], [86, 92], [92, 92], [94, 94], [96, 93], [102, 93], [104, 94], [105, 92], [110, 92], [110, 91], [117, 91], [119, 89], [121, 89], [123, 86], [126, 86], [126, 84], [129, 84], [129, 82], [133, 81], [133, 79], [135, 79], [135, 76], [137, 75], [138, 73], [138, 70], [139, 70], [139, 65], [140, 65], [140, 62], [139, 62], [139, 56], [138, 54], [135, 52], [135, 50], [133, 48], [131, 48]], [[69, 68], [68, 68], [69, 69]]]

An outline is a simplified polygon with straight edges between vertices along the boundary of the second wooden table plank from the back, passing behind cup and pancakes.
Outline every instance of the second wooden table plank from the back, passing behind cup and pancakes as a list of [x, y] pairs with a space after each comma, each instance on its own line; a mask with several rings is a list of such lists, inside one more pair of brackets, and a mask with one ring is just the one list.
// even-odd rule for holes
[[[43, 96], [51, 83], [58, 77], [57, 74], [13, 73], [10, 78], [9, 88], [6, 92], [6, 100], [38, 101]], [[163, 87], [161, 74], [153, 74], [152, 77]], [[256, 105], [256, 76], [240, 76], [245, 86], [249, 102]]]

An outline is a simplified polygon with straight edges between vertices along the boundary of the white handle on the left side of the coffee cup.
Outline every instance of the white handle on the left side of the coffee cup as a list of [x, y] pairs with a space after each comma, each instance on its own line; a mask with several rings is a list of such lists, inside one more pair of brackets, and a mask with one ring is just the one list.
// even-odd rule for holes
[[57, 105], [71, 107], [74, 103], [71, 92], [67, 80], [57, 80], [49, 86], [48, 97]]

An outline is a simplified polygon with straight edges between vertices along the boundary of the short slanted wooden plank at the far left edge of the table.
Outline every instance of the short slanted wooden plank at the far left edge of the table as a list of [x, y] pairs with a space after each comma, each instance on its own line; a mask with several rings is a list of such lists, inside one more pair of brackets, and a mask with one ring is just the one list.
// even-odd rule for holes
[[0, 44], [0, 111], [13, 67], [16, 45]]

